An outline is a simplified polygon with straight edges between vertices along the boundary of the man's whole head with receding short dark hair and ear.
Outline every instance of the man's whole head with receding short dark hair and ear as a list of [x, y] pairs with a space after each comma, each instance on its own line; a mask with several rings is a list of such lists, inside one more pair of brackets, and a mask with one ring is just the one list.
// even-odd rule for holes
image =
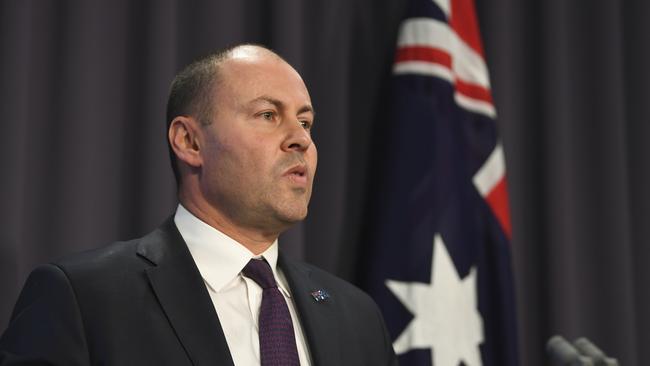
[[167, 119], [179, 197], [202, 219], [273, 236], [306, 216], [314, 111], [277, 54], [243, 45], [193, 63], [172, 84]]

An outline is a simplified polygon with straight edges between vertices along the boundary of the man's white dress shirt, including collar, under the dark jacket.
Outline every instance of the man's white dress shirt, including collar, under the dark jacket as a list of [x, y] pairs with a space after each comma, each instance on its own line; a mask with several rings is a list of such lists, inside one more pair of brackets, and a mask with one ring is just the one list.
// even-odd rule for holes
[[277, 267], [278, 241], [256, 256], [234, 239], [201, 221], [182, 205], [178, 205], [174, 223], [201, 272], [235, 365], [260, 364], [258, 317], [262, 288], [255, 281], [242, 276], [241, 270], [251, 258], [264, 257], [289, 307], [300, 365], [309, 366], [309, 351], [296, 307], [287, 280]]

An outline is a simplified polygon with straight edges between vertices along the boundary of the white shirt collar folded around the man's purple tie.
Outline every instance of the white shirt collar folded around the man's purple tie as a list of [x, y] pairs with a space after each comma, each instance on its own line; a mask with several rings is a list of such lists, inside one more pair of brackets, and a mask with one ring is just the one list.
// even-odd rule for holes
[[174, 223], [185, 240], [203, 280], [215, 292], [219, 292], [239, 276], [252, 258], [263, 257], [271, 266], [278, 287], [290, 296], [285, 281], [278, 276], [277, 239], [266, 251], [256, 256], [236, 240], [201, 221], [181, 204], [176, 209]]

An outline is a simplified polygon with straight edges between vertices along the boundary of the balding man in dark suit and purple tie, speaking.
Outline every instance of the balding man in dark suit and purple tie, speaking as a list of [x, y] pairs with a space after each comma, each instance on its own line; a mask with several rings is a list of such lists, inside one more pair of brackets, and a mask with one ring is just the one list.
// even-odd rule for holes
[[396, 365], [368, 296], [278, 252], [307, 214], [314, 110], [298, 73], [243, 45], [174, 80], [176, 214], [30, 275], [2, 365]]

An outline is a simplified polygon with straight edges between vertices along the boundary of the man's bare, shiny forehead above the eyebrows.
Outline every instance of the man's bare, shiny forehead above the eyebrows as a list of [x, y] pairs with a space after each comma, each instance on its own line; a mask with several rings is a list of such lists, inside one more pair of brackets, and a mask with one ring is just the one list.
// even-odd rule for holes
[[217, 95], [238, 103], [268, 96], [287, 104], [311, 104], [298, 72], [273, 54], [235, 55], [225, 60], [219, 70]]

